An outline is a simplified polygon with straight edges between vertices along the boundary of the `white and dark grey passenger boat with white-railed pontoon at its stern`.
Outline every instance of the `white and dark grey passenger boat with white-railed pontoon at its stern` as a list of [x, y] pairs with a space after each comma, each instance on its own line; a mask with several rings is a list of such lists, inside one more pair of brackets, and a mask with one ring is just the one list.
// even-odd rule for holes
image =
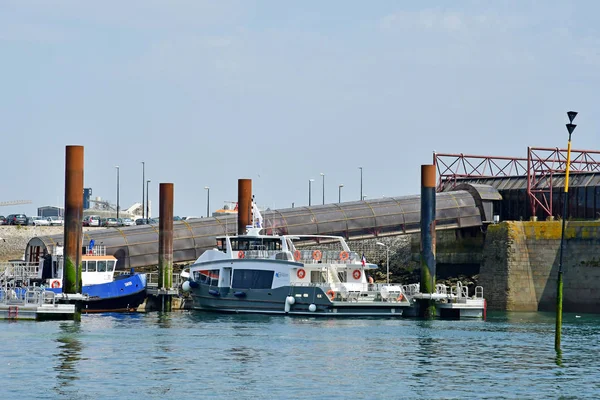
[[[185, 271], [189, 275], [183, 290], [190, 292], [194, 309], [398, 317], [405, 311], [415, 315], [416, 300], [424, 296], [433, 296], [440, 305], [466, 300], [459, 299], [464, 292], [445, 293], [441, 286], [438, 293], [427, 295], [419, 293], [418, 284], [374, 284], [369, 274], [377, 265], [352, 251], [343, 237], [262, 235], [262, 218], [254, 205], [253, 214], [257, 226], [248, 227], [245, 235], [217, 237], [217, 247]], [[469, 316], [482, 316], [483, 293], [478, 293], [479, 315]]]

